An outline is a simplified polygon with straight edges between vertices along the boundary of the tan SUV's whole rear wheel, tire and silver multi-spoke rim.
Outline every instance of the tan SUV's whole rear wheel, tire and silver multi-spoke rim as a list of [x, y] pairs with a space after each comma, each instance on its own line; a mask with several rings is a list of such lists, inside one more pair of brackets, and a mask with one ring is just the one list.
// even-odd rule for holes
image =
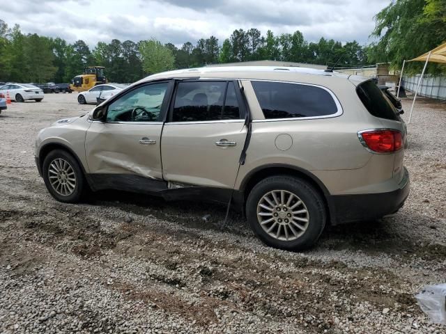
[[313, 246], [327, 219], [323, 198], [314, 186], [288, 175], [256, 184], [247, 198], [246, 214], [265, 244], [286, 250]]

